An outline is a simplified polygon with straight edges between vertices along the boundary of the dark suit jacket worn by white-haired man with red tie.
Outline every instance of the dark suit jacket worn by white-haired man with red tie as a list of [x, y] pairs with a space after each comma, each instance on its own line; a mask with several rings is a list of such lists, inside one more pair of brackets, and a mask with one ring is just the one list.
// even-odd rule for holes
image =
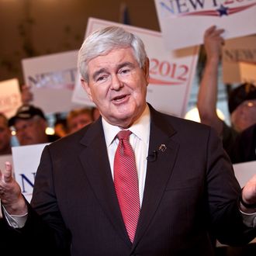
[[[150, 108], [144, 199], [134, 243], [119, 210], [102, 130], [86, 126], [43, 150], [32, 208], [19, 230], [37, 253], [72, 256], [212, 255], [209, 231], [242, 244], [240, 186], [220, 140], [209, 126]], [[164, 144], [166, 150], [159, 150]], [[155, 151], [154, 151], [155, 150]], [[38, 254], [35, 254], [38, 255]]]

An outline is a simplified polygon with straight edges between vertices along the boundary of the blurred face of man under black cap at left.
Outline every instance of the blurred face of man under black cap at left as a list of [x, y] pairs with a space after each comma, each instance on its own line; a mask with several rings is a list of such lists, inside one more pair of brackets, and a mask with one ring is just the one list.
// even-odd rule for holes
[[42, 118], [34, 116], [31, 119], [17, 119], [15, 128], [19, 144], [22, 146], [47, 143], [46, 122]]

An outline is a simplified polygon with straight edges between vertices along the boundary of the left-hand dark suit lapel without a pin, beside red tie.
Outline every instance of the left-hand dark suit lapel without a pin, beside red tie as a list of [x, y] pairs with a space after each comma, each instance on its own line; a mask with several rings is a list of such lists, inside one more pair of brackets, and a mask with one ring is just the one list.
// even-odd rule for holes
[[119, 236], [130, 246], [116, 198], [101, 119], [92, 123], [85, 137], [82, 138], [81, 144], [85, 146], [85, 149], [82, 150], [79, 157], [88, 182], [109, 218], [109, 222], [112, 223]]

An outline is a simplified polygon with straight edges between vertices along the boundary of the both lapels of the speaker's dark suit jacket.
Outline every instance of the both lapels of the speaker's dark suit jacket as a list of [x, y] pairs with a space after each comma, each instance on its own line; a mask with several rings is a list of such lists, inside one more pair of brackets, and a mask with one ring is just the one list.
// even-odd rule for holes
[[[156, 157], [147, 162], [144, 199], [133, 248], [143, 237], [157, 211], [178, 152], [178, 144], [171, 140], [175, 130], [161, 117], [160, 113], [157, 113], [151, 107], [150, 116], [149, 154], [154, 152]], [[85, 146], [85, 149], [81, 151], [79, 157], [88, 182], [92, 186], [103, 211], [109, 218], [109, 222], [112, 223], [116, 232], [130, 247], [131, 243], [123, 223], [113, 185], [101, 119], [92, 123], [85, 137], [82, 138], [81, 144]], [[164, 150], [163, 146], [163, 150], [161, 150], [159, 148], [161, 145], [164, 145], [166, 149]]]

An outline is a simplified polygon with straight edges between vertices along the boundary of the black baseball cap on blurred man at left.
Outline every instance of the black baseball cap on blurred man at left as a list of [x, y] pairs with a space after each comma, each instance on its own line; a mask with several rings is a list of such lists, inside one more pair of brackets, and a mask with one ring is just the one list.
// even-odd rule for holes
[[33, 116], [40, 116], [46, 119], [43, 111], [32, 105], [23, 105], [17, 109], [16, 115], [9, 119], [9, 126], [14, 126], [17, 119], [30, 119]]

